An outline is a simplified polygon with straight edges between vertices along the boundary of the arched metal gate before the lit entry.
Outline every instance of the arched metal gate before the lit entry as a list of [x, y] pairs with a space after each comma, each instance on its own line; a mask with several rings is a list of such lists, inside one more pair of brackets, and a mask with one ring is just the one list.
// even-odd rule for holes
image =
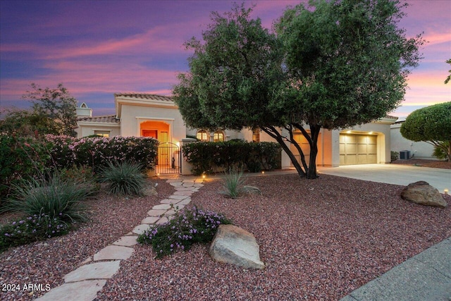
[[181, 168], [180, 147], [171, 142], [160, 143], [156, 154], [156, 174], [181, 173]]

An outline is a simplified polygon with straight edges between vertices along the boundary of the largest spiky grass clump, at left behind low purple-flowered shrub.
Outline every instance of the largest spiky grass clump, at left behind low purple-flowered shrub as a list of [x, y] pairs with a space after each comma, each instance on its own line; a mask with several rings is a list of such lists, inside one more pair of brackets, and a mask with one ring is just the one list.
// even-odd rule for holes
[[84, 201], [94, 195], [92, 183], [63, 180], [58, 173], [49, 179], [23, 180], [14, 188], [4, 210], [27, 216], [44, 214], [68, 223], [87, 220]]

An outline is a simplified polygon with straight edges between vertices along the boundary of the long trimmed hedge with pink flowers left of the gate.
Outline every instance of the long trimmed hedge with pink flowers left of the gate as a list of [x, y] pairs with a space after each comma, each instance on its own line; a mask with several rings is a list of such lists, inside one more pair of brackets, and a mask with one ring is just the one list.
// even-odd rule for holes
[[94, 171], [108, 162], [137, 162], [153, 169], [158, 140], [150, 137], [83, 137], [47, 135], [51, 156], [58, 168], [91, 166]]

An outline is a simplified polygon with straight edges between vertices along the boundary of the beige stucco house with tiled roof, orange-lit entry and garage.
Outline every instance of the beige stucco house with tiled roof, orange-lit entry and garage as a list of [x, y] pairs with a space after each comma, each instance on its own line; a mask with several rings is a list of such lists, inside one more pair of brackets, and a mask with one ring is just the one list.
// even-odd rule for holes
[[[161, 145], [186, 143], [186, 137], [197, 137], [202, 141], [274, 141], [261, 130], [215, 130], [187, 128], [171, 97], [147, 93], [114, 94], [116, 115], [92, 117], [92, 111], [82, 104], [79, 109], [78, 137], [88, 135], [154, 137]], [[79, 111], [78, 111], [79, 112]], [[319, 166], [340, 166], [352, 164], [385, 164], [390, 162], [390, 125], [396, 117], [388, 116], [373, 123], [357, 125], [343, 130], [321, 130], [319, 152], [316, 164]], [[281, 130], [281, 133], [285, 133]], [[286, 133], [288, 137], [288, 133]], [[301, 145], [306, 159], [309, 146], [302, 133], [295, 133], [295, 140]], [[288, 144], [288, 142], [287, 142]], [[297, 154], [294, 146], [290, 146]], [[175, 152], [175, 151], [174, 151]], [[171, 154], [168, 154], [168, 158]], [[178, 157], [173, 154], [172, 157]], [[160, 158], [165, 156], [159, 155]], [[282, 168], [292, 166], [288, 155], [282, 155]], [[186, 171], [185, 171], [186, 172]]]

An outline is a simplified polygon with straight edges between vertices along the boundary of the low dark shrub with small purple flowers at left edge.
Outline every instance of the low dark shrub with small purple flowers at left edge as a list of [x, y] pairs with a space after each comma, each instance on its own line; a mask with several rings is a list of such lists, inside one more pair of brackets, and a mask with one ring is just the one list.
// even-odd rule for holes
[[0, 226], [0, 252], [8, 247], [65, 235], [70, 228], [70, 224], [57, 217], [52, 219], [47, 214], [34, 214], [24, 219], [16, 219]]

